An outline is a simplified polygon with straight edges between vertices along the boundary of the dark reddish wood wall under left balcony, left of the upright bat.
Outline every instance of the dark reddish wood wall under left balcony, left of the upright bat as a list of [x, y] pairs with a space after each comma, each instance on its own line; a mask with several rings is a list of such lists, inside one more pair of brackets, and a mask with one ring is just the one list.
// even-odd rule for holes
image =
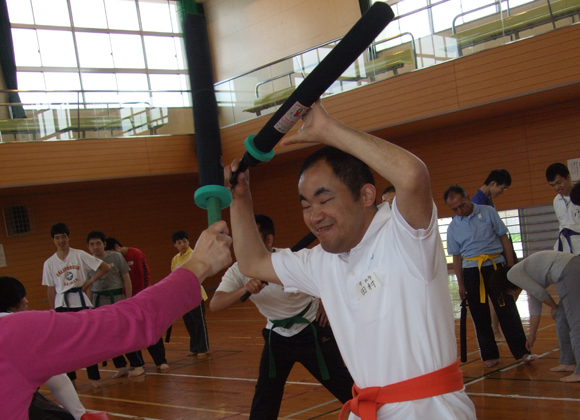
[[42, 267], [55, 252], [50, 227], [65, 222], [73, 248], [87, 251], [86, 235], [98, 229], [141, 249], [152, 279], [158, 281], [169, 273], [171, 258], [177, 253], [171, 233], [184, 229], [195, 240], [207, 226], [206, 213], [193, 203], [197, 182], [197, 176], [189, 174], [2, 190], [2, 207], [28, 206], [34, 232], [7, 238], [0, 229], [7, 261], [0, 275], [14, 276], [25, 284], [31, 308], [48, 308], [46, 288], [41, 286]]

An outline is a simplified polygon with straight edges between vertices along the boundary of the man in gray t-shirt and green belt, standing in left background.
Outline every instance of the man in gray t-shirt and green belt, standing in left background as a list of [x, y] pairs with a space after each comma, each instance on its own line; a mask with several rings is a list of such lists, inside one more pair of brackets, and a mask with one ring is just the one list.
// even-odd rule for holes
[[[87, 236], [87, 245], [91, 254], [105, 261], [111, 267], [111, 271], [97, 281], [92, 280], [96, 273], [94, 270], [89, 270], [87, 273], [89, 280], [85, 283], [83, 291], [92, 298], [95, 308], [112, 305], [133, 295], [131, 277], [129, 277], [130, 268], [127, 265], [127, 261], [118, 252], [105, 251], [105, 239], [105, 234], [98, 230], [93, 230]], [[113, 363], [119, 371], [113, 375], [113, 378], [121, 378], [123, 376], [135, 378], [145, 374], [145, 368], [143, 367], [145, 362], [141, 351], [130, 352], [125, 356], [129, 359], [132, 369], [130, 370], [127, 367], [127, 361], [122, 355], [117, 356], [113, 358]]]

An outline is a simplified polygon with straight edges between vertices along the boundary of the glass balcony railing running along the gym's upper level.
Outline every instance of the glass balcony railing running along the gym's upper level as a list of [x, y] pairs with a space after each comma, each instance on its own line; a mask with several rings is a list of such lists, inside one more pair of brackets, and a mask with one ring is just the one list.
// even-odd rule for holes
[[[396, 11], [404, 11], [408, 1], [391, 3]], [[434, 1], [399, 13], [323, 96], [580, 20], [580, 0], [464, 0], [462, 8], [456, 0]], [[216, 83], [220, 126], [275, 112], [339, 41], [334, 39]], [[15, 104], [7, 103], [9, 91], [0, 91], [0, 95], [2, 92], [2, 142], [193, 132], [188, 91], [19, 91], [27, 116], [21, 121], [9, 119], [8, 110]]]

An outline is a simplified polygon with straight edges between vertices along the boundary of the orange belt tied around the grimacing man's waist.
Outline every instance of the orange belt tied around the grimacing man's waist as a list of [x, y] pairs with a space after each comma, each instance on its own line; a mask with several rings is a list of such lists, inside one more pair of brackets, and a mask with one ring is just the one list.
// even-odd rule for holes
[[385, 404], [420, 400], [463, 389], [463, 373], [456, 360], [443, 369], [406, 381], [379, 387], [359, 388], [352, 386], [352, 400], [347, 401], [340, 411], [339, 420], [344, 420], [347, 411], [352, 411], [362, 420], [377, 420], [377, 411]]

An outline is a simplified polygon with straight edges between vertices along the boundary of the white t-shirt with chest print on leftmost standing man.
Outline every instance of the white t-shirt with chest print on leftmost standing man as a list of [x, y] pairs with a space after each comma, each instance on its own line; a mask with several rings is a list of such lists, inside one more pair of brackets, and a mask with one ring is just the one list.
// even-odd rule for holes
[[[64, 261], [58, 258], [56, 253], [46, 260], [42, 269], [42, 285], [55, 287], [54, 307], [66, 308], [64, 292], [75, 287], [83, 287], [87, 281], [87, 272], [91, 269], [97, 270], [102, 262], [85, 251], [74, 248], [69, 249]], [[93, 305], [88, 296], [84, 293], [83, 296], [86, 305], [92, 307]], [[82, 307], [78, 293], [69, 293], [67, 301], [70, 308]]]

